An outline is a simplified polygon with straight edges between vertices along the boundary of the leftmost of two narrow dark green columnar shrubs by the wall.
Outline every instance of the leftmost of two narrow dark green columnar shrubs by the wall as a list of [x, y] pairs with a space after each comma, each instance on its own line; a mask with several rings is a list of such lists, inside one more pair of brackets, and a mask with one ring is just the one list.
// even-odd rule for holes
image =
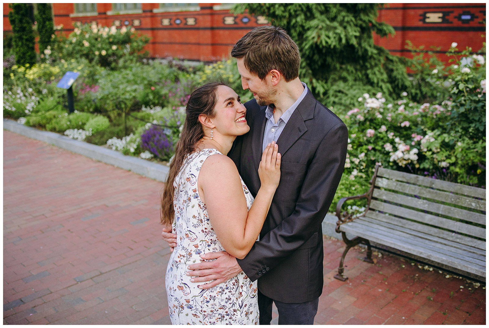
[[11, 3], [9, 7], [12, 8], [8, 13], [8, 19], [14, 33], [12, 44], [15, 61], [18, 65], [33, 65], [36, 63], [35, 38], [27, 3]]

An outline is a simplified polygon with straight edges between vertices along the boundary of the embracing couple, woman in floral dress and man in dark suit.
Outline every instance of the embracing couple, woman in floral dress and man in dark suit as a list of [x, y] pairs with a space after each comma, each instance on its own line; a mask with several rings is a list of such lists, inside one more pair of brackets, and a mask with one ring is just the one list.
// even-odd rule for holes
[[253, 29], [231, 56], [254, 99], [222, 83], [192, 93], [162, 196], [170, 317], [269, 325], [275, 303], [279, 324], [312, 325], [347, 128], [299, 80], [282, 28]]

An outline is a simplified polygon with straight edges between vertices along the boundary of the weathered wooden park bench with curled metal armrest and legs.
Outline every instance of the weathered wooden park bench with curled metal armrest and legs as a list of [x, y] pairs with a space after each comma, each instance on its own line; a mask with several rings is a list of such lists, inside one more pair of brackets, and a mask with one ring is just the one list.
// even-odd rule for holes
[[[486, 281], [486, 190], [413, 175], [377, 166], [369, 191], [341, 198], [336, 206], [336, 232], [346, 243], [338, 274], [343, 275], [346, 253], [367, 245], [433, 265], [478, 281]], [[343, 203], [367, 198], [364, 214], [341, 214]], [[357, 236], [349, 240], [346, 234]], [[394, 251], [393, 251], [394, 250]]]

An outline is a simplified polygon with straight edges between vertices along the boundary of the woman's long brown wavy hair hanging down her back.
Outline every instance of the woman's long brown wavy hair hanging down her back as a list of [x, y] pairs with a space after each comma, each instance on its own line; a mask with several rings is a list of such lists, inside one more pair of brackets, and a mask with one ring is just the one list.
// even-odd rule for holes
[[197, 150], [197, 144], [204, 136], [202, 125], [199, 122], [199, 115], [204, 114], [209, 118], [216, 116], [214, 108], [217, 103], [217, 89], [219, 86], [227, 85], [224, 82], [212, 82], [198, 87], [192, 92], [187, 102], [187, 109], [185, 110], [187, 116], [183, 123], [180, 139], [175, 148], [175, 157], [170, 164], [170, 171], [161, 196], [161, 224], [165, 226], [170, 226], [175, 217], [173, 208], [175, 189], [173, 182], [178, 172], [180, 172], [185, 157]]

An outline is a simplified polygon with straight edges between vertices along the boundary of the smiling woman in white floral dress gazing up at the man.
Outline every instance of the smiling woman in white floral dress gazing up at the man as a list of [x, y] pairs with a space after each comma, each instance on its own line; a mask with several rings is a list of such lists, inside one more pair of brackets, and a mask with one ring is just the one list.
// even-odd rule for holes
[[[226, 156], [237, 135], [249, 131], [240, 97], [222, 83], [190, 96], [174, 160], [161, 200], [161, 223], [173, 224], [177, 246], [166, 271], [173, 324], [259, 323], [257, 285], [241, 272], [209, 289], [187, 276], [206, 252], [225, 250], [243, 259], [257, 240], [280, 180], [280, 153], [269, 144], [258, 173], [256, 199]], [[173, 184], [173, 188], [171, 188]]]

